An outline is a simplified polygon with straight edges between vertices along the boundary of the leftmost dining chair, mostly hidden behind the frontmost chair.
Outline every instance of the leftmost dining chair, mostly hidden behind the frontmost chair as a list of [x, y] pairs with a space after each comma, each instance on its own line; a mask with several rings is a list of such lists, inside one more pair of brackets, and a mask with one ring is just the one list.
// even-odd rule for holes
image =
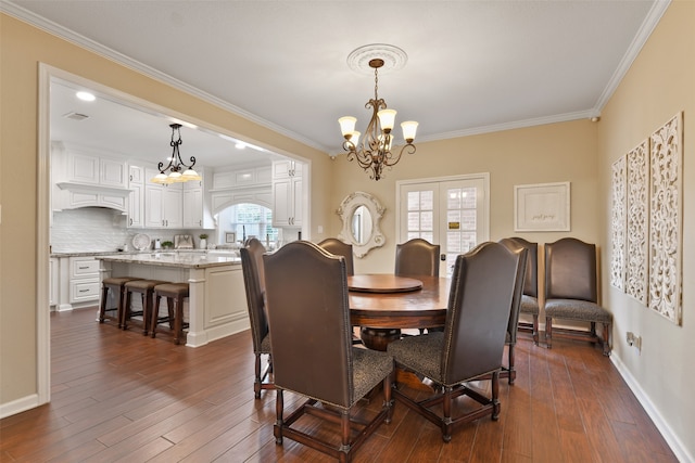
[[[247, 291], [247, 306], [249, 308], [249, 319], [251, 321], [251, 339], [253, 342], [253, 353], [255, 355], [255, 380], [253, 382], [253, 393], [256, 399], [261, 398], [262, 389], [275, 389], [273, 381], [268, 381], [273, 372], [273, 356], [270, 352], [270, 333], [265, 316], [265, 278], [263, 274], [263, 254], [265, 247], [255, 237], [249, 239], [245, 245], [239, 249], [241, 255], [241, 269], [243, 272], [243, 284]], [[262, 368], [262, 357], [268, 357], [265, 369]]]

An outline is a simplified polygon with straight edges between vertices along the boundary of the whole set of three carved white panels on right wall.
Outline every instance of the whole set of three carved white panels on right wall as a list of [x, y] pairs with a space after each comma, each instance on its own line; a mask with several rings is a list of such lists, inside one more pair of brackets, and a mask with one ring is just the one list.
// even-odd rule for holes
[[610, 284], [682, 319], [683, 114], [612, 164]]

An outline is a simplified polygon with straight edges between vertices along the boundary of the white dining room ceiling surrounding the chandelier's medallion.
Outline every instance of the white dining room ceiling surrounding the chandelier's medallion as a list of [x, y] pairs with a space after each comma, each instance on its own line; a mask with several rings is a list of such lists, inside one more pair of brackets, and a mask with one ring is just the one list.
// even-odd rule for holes
[[[417, 144], [599, 116], [668, 3], [3, 0], [0, 8], [336, 154], [338, 117], [356, 116], [364, 131], [364, 104], [374, 95], [374, 76], [346, 65], [358, 47], [389, 43], [407, 53], [403, 69], [379, 75], [379, 97], [399, 111], [396, 121], [420, 123]], [[92, 121], [125, 124], [103, 117]], [[99, 139], [161, 156], [169, 121], [150, 127], [138, 117], [129, 116], [125, 134]], [[67, 126], [52, 130], [72, 137]], [[190, 150], [200, 163], [216, 163], [203, 160], [207, 149], [191, 130], [181, 136], [184, 156]], [[228, 146], [210, 150], [232, 158]]]

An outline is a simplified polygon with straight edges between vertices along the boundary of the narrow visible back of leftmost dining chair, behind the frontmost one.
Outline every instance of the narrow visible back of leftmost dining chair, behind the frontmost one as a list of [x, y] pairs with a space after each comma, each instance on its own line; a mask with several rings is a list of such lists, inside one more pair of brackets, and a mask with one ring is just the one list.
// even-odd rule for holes
[[251, 321], [251, 338], [254, 352], [261, 351], [261, 342], [268, 334], [268, 321], [265, 312], [264, 293], [265, 275], [263, 254], [265, 246], [255, 237], [249, 239], [241, 249], [241, 270], [243, 285], [247, 291], [247, 306]]

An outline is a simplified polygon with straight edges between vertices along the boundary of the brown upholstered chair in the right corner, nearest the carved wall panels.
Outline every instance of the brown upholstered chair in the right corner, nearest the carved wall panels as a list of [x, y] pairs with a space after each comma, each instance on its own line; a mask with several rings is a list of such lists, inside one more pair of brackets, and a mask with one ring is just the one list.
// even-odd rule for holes
[[[545, 245], [545, 340], [553, 347], [553, 336], [589, 340], [603, 345], [610, 355], [612, 314], [601, 307], [596, 281], [596, 245], [564, 237]], [[587, 322], [589, 331], [553, 329], [553, 320]], [[596, 334], [603, 325], [603, 339]]]

